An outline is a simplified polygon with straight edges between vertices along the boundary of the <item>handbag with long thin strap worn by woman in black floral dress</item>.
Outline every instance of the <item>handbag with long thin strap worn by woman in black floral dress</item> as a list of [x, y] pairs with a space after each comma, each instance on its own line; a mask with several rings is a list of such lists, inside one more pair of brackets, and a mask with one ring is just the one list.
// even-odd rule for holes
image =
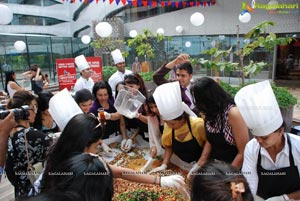
[[30, 163], [26, 133], [26, 129], [24, 129], [25, 149], [27, 157], [27, 177], [30, 180], [31, 185], [34, 186], [34, 182], [39, 178], [40, 174], [43, 171], [43, 163], [37, 162], [34, 165]]

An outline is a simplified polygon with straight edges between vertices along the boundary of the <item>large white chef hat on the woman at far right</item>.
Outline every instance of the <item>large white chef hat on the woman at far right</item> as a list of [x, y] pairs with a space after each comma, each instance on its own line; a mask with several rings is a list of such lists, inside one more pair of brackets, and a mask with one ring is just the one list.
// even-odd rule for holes
[[269, 135], [283, 123], [268, 80], [243, 87], [235, 95], [234, 101], [255, 136]]

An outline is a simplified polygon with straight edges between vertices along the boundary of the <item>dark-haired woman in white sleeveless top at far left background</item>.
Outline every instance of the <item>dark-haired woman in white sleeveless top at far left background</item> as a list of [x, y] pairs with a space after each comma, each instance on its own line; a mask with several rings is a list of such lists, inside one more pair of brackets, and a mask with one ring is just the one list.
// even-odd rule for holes
[[12, 98], [14, 93], [19, 90], [24, 90], [24, 82], [21, 85], [16, 81], [17, 75], [14, 71], [5, 72], [5, 88], [4, 91], [8, 93], [9, 97]]

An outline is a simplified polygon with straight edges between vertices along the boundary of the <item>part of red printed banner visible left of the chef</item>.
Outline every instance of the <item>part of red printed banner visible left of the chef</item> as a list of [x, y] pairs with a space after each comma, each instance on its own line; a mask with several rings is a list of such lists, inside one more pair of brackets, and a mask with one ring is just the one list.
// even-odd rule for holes
[[76, 82], [76, 67], [74, 58], [56, 59], [56, 72], [58, 76], [59, 90], [74, 86]]

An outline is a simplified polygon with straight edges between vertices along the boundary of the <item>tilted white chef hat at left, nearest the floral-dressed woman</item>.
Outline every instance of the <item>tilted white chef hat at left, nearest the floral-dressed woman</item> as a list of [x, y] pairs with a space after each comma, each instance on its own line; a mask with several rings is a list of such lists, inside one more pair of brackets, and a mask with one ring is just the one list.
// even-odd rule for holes
[[49, 113], [60, 130], [63, 130], [72, 117], [83, 112], [65, 88], [50, 99]]

